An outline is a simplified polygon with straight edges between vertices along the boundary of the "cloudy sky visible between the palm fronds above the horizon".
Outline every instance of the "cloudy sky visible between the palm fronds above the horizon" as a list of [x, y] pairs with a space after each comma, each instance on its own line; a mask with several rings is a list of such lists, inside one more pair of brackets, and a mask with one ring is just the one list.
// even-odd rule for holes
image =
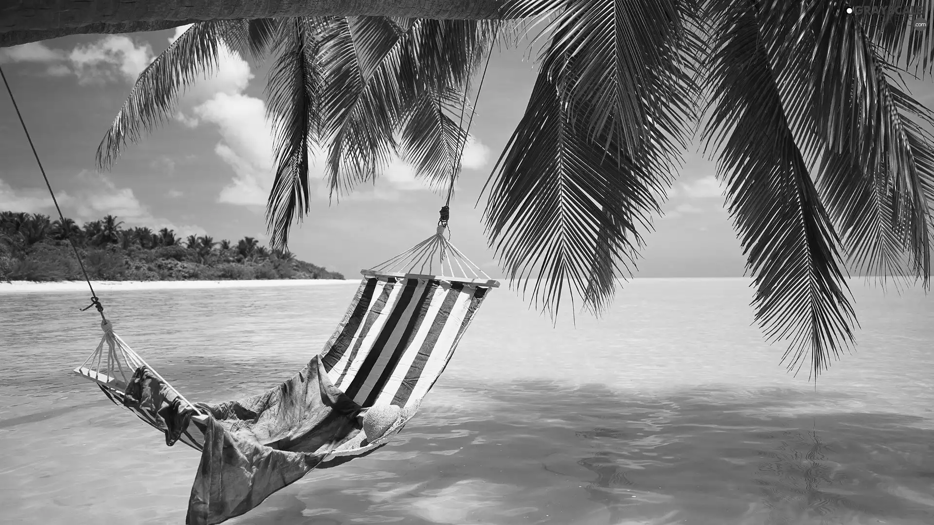
[[[271, 182], [271, 139], [264, 120], [263, 64], [236, 53], [186, 93], [174, 120], [98, 173], [94, 151], [136, 75], [176, 30], [79, 35], [0, 50], [0, 63], [65, 214], [79, 221], [108, 213], [127, 226], [235, 240], [267, 238], [263, 219]], [[535, 78], [526, 51], [494, 54], [477, 107], [474, 143], [451, 208], [452, 242], [491, 276], [501, 276], [486, 246], [483, 201], [474, 206], [496, 157], [519, 121]], [[638, 277], [743, 275], [743, 255], [723, 207], [714, 164], [691, 149], [664, 217], [639, 263]], [[0, 97], [0, 209], [54, 210], [13, 107]], [[354, 278], [433, 232], [443, 197], [393, 163], [375, 186], [339, 204], [318, 188], [309, 217], [293, 230], [300, 259]]]

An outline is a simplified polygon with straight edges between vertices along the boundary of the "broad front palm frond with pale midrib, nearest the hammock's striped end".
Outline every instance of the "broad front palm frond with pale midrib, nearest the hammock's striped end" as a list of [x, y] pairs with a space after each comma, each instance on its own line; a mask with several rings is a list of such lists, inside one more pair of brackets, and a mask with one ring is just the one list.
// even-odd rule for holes
[[[597, 309], [606, 283], [630, 271], [661, 178], [615, 158], [576, 129], [561, 86], [541, 72], [529, 106], [490, 177], [484, 216], [511, 279], [557, 313], [563, 293]], [[488, 182], [488, 184], [489, 184]]]

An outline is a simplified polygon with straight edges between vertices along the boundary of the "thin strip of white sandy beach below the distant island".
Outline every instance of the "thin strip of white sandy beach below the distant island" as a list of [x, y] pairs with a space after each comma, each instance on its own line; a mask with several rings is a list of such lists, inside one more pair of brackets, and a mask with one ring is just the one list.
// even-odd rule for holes
[[[95, 292], [134, 290], [199, 290], [205, 288], [273, 288], [279, 286], [321, 286], [360, 282], [359, 279], [255, 279], [192, 281], [91, 281]], [[0, 294], [39, 291], [88, 291], [84, 281], [33, 282], [0, 281]]]

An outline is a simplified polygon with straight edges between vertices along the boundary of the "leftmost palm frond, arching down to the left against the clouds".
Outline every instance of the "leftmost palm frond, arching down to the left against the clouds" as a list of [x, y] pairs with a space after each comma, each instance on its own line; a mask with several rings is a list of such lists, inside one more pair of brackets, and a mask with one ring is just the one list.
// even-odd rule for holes
[[97, 165], [108, 169], [126, 143], [161, 125], [175, 109], [178, 95], [201, 73], [218, 65], [230, 21], [198, 22], [178, 36], [136, 79], [117, 117], [97, 147]]

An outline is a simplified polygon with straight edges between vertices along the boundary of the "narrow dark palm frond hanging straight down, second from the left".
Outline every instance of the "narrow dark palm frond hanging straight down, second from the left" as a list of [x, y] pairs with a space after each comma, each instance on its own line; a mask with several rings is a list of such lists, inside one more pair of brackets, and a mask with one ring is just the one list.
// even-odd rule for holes
[[276, 41], [278, 58], [266, 86], [267, 117], [273, 121], [276, 178], [266, 203], [273, 249], [288, 246], [293, 222], [308, 211], [311, 144], [318, 129], [321, 78], [312, 19], [285, 21]]

